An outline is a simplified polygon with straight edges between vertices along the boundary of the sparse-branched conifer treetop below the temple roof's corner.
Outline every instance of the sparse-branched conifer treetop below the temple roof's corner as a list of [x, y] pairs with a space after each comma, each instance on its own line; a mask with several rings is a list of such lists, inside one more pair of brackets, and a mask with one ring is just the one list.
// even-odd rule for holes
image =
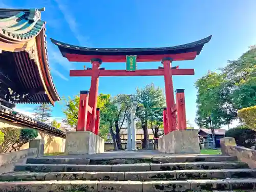
[[39, 106], [36, 106], [33, 116], [38, 121], [49, 123], [51, 114], [52, 106], [50, 104], [42, 103]]

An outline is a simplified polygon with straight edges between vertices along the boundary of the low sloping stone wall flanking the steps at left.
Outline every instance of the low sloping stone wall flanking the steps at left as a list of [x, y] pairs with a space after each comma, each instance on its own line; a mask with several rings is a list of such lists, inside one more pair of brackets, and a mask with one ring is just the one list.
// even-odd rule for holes
[[0, 154], [0, 174], [12, 172], [15, 164], [25, 163], [28, 157], [37, 157], [37, 148]]

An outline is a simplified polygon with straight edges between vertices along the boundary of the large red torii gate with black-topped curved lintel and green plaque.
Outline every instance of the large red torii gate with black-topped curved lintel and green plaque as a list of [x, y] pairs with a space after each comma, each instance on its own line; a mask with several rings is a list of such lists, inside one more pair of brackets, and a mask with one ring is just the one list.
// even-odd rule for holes
[[[91, 62], [92, 68], [70, 70], [70, 76], [90, 76], [89, 91], [80, 91], [77, 131], [99, 133], [99, 110], [97, 95], [100, 76], [164, 76], [166, 108], [163, 110], [164, 135], [175, 130], [186, 130], [184, 90], [176, 90], [174, 99], [173, 75], [194, 75], [194, 69], [172, 67], [172, 61], [193, 60], [200, 54], [211, 36], [175, 47], [165, 48], [86, 48], [65, 44], [51, 39], [58, 46], [63, 57], [69, 61]], [[161, 61], [158, 69], [136, 70], [136, 62]], [[102, 62], [126, 62], [126, 70], [105, 70]], [[177, 117], [176, 117], [177, 114]], [[176, 120], [177, 119], [177, 120]]]

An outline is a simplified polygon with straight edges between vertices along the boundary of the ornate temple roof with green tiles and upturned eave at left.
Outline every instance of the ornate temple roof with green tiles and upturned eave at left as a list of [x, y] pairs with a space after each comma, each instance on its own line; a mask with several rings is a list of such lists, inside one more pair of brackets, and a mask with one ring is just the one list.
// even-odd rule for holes
[[[13, 103], [58, 101], [49, 68], [44, 9], [0, 9], [0, 98]], [[7, 63], [7, 66], [1, 65]], [[10, 91], [9, 98], [3, 98]]]

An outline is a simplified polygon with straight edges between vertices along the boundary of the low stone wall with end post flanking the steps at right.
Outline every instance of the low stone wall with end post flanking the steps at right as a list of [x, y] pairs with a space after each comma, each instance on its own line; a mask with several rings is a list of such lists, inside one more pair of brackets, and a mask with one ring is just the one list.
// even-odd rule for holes
[[256, 150], [237, 146], [232, 137], [221, 139], [221, 152], [222, 155], [237, 156], [239, 161], [247, 163], [250, 168], [256, 168]]

